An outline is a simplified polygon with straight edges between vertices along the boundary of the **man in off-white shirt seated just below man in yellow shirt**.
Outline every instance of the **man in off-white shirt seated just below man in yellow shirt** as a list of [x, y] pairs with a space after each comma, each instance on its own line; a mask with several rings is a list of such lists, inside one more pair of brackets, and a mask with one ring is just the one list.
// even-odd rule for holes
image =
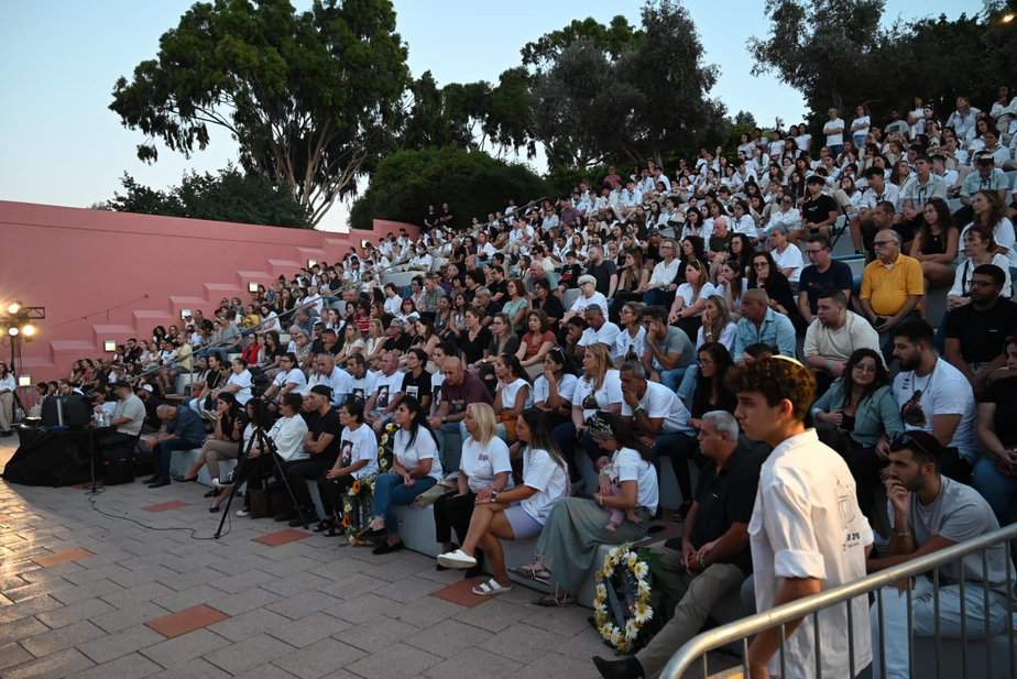
[[867, 320], [848, 310], [848, 298], [840, 291], [819, 294], [816, 317], [806, 330], [801, 352], [806, 365], [816, 371], [816, 391], [822, 394], [844, 374], [844, 365], [856, 350], [879, 352], [879, 335]]

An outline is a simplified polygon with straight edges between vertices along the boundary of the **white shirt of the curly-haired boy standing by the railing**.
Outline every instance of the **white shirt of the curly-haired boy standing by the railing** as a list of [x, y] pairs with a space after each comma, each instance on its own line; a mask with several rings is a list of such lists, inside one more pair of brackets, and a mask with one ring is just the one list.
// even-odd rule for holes
[[[848, 464], [814, 429], [781, 442], [763, 463], [748, 537], [757, 611], [774, 607], [779, 579], [816, 578], [825, 591], [866, 576], [872, 528], [859, 508]], [[861, 670], [872, 660], [868, 598], [856, 596], [851, 606], [854, 666]], [[850, 677], [846, 606], [821, 609], [818, 616], [823, 677]], [[806, 616], [785, 644], [783, 679], [814, 676], [814, 635], [812, 616]], [[769, 672], [779, 671], [774, 654]]]

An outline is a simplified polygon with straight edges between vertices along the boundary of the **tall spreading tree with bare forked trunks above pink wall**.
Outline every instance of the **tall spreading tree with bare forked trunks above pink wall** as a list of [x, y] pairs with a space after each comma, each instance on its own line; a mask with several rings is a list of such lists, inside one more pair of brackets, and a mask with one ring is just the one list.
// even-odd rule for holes
[[390, 147], [408, 80], [390, 0], [199, 2], [163, 34], [156, 58], [113, 88], [116, 111], [189, 155], [228, 131], [249, 173], [293, 195], [318, 223]]

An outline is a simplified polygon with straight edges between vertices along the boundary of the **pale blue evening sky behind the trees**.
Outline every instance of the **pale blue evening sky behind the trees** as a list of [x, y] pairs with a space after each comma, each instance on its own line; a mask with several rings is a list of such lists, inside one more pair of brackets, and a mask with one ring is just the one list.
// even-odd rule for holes
[[[397, 31], [409, 52], [409, 68], [430, 70], [439, 85], [496, 81], [520, 64], [527, 42], [593, 17], [608, 23], [624, 14], [638, 24], [641, 0], [394, 0]], [[111, 198], [124, 172], [142, 184], [165, 188], [188, 169], [215, 172], [236, 158], [236, 144], [212, 132], [211, 143], [190, 158], [165, 147], [155, 164], [135, 155], [143, 141], [108, 109], [113, 83], [157, 54], [158, 37], [175, 28], [189, 0], [3, 0], [0, 23], [0, 199], [87, 207]], [[309, 6], [295, 2], [298, 9]], [[706, 50], [720, 67], [710, 92], [731, 114], [751, 111], [768, 123], [787, 124], [805, 112], [801, 96], [773, 76], [753, 77], [745, 47], [763, 36], [763, 0], [689, 0]], [[723, 8], [723, 11], [718, 11]], [[887, 0], [884, 20], [977, 12], [980, 0], [930, 0], [917, 9]], [[536, 167], [540, 171], [542, 167]], [[337, 205], [320, 228], [340, 230], [347, 206]]]

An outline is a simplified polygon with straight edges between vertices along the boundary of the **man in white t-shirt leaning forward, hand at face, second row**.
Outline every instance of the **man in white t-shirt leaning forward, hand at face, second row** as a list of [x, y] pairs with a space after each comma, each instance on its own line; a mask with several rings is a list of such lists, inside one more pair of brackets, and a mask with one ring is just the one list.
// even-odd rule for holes
[[692, 481], [689, 460], [696, 452], [696, 432], [689, 420], [689, 410], [678, 394], [659, 382], [646, 380], [646, 371], [636, 361], [622, 363], [622, 417], [632, 421], [636, 436], [653, 449], [654, 463], [659, 470], [660, 458], [671, 460], [678, 486], [681, 490], [682, 510], [688, 512], [692, 501]]

